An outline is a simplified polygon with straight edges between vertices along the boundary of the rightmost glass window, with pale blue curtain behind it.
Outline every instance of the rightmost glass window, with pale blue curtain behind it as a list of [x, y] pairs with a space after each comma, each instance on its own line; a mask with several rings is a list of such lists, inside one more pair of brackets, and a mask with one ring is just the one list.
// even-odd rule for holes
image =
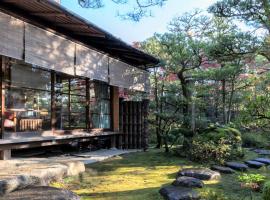
[[90, 85], [92, 128], [111, 128], [110, 86], [102, 82]]

